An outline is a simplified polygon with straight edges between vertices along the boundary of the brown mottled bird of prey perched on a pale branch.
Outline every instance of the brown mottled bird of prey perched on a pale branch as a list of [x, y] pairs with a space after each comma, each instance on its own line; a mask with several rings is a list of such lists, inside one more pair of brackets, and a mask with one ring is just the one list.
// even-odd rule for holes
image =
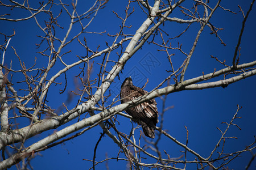
[[[148, 94], [146, 90], [133, 85], [131, 76], [127, 77], [121, 85], [121, 103], [126, 103], [146, 94]], [[155, 99], [126, 109], [125, 112], [133, 117], [133, 122], [137, 122], [138, 125], [142, 126], [143, 133], [147, 137], [155, 138], [155, 127], [158, 123], [158, 108], [156, 107]]]

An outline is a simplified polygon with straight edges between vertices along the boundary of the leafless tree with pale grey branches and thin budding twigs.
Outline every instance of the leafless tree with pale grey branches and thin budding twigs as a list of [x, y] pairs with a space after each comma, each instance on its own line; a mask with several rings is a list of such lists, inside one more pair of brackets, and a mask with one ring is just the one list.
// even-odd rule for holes
[[[37, 55], [39, 54], [40, 58], [43, 58], [35, 58], [34, 64], [28, 66], [28, 61], [23, 61], [16, 47], [11, 46], [10, 48], [9, 46], [11, 38], [16, 36], [16, 31], [14, 30], [13, 33], [9, 33], [10, 31], [7, 33], [0, 32], [2, 40], [2, 45], [0, 46], [2, 50], [0, 72], [0, 148], [2, 150], [2, 158], [0, 169], [7, 169], [20, 162], [22, 164], [20, 166], [16, 165], [16, 167], [26, 169], [30, 165], [30, 160], [38, 152], [76, 138], [96, 126], [100, 126], [103, 132], [96, 143], [94, 153], [92, 153], [93, 159], [85, 158], [86, 161], [92, 162], [91, 168], [93, 169], [98, 164], [108, 162], [110, 159], [125, 160], [127, 164], [130, 164], [131, 169], [144, 169], [144, 167], [151, 169], [186, 169], [191, 164], [198, 169], [209, 169], [209, 167], [220, 169], [228, 167], [230, 162], [237, 159], [243, 152], [251, 152], [253, 154], [251, 160], [248, 160], [246, 169], [250, 167], [255, 158], [255, 142], [248, 143], [243, 150], [230, 153], [224, 152], [225, 141], [229, 138], [236, 138], [227, 135], [229, 129], [234, 127], [240, 129], [235, 122], [238, 118], [241, 118], [238, 116], [241, 109], [239, 106], [237, 106], [237, 111], [233, 114], [233, 118], [230, 117], [229, 122], [224, 122], [226, 128], [224, 130], [218, 128], [221, 134], [220, 138], [213, 147], [212, 152], [207, 156], [203, 156], [188, 147], [189, 131], [187, 128], [186, 142], [178, 141], [172, 134], [162, 129], [164, 124], [163, 114], [170, 109], [166, 104], [168, 94], [185, 90], [225, 88], [229, 84], [256, 74], [256, 60], [240, 63], [240, 58], [243, 57], [240, 44], [245, 23], [250, 17], [254, 0], [246, 11], [238, 6], [241, 11], [240, 14], [229, 10], [228, 7], [221, 6], [220, 0], [213, 2], [208, 0], [129, 1], [124, 10], [125, 12], [122, 12], [122, 14], [113, 11], [115, 18], [119, 19], [121, 23], [118, 31], [113, 34], [110, 30], [104, 31], [104, 29], [100, 32], [90, 31], [90, 25], [94, 24], [94, 20], [102, 9], [108, 6], [108, 0], [95, 1], [90, 7], [82, 8], [77, 1], [67, 3], [61, 0], [56, 2], [52, 0], [40, 2], [39, 4], [28, 1], [20, 3], [13, 0], [0, 2], [1, 8], [5, 9], [1, 11], [0, 20], [2, 23], [9, 24], [31, 20], [31, 23], [34, 23], [39, 29], [37, 33], [38, 39], [36, 40]], [[134, 8], [137, 10], [134, 10]], [[19, 15], [16, 15], [15, 10], [19, 11]], [[203, 72], [200, 76], [186, 79], [185, 75], [187, 74], [189, 63], [195, 56], [194, 52], [203, 31], [208, 33], [210, 31], [211, 34], [216, 36], [217, 41], [225, 45], [219, 34], [222, 28], [217, 28], [211, 22], [216, 10], [232, 13], [234, 16], [243, 15], [241, 32], [239, 35], [235, 35], [238, 41], [236, 48], [233, 49], [233, 56], [226, 56], [226, 58], [232, 58], [232, 62], [221, 61], [221, 59], [212, 55], [211, 57], [216, 62], [216, 65], [221, 64], [222, 69], [215, 69], [208, 74]], [[3, 11], [8, 12], [3, 13]], [[129, 18], [136, 12], [141, 12], [140, 14], [147, 17], [139, 23], [139, 27], [134, 31], [134, 29], [131, 29], [131, 24], [134, 23], [129, 23]], [[135, 21], [135, 23], [138, 24], [138, 21]], [[173, 35], [174, 29], [166, 29], [166, 25], [170, 23], [181, 25], [178, 26], [180, 27], [180, 33], [174, 37], [170, 36]], [[195, 35], [193, 35], [195, 39], [191, 44], [191, 48], [184, 49], [182, 43], [179, 42], [180, 37], [191, 36], [191, 33], [187, 32], [193, 25], [198, 28]], [[102, 25], [99, 27], [101, 28]], [[92, 42], [90, 44], [85, 35], [92, 37], [102, 35], [102, 37], [110, 37], [110, 39], [108, 39], [108, 42], [104, 39], [101, 40], [101, 42], [105, 43], [105, 48], [102, 48], [100, 46], [102, 43], [95, 46], [92, 45]], [[171, 42], [177, 42], [178, 45], [173, 46]], [[120, 81], [119, 73], [122, 73], [123, 69], [127, 69], [125, 67], [127, 61], [146, 45], [154, 46], [161, 55], [165, 56], [165, 59], [168, 59], [170, 67], [161, 68], [162, 73], [168, 73], [168, 76], [158, 86], [152, 88], [147, 95], [120, 104], [118, 93], [114, 94], [110, 85], [113, 82]], [[77, 49], [71, 49], [72, 46], [77, 46]], [[78, 50], [81, 48], [83, 50]], [[8, 57], [5, 54], [6, 50], [14, 52], [15, 61], [20, 63], [20, 69], [13, 68], [12, 63], [5, 62], [5, 57]], [[178, 54], [185, 56], [182, 62], [174, 61], [174, 55]], [[29, 62], [31, 62], [32, 56], [29, 56], [29, 58]], [[73, 75], [71, 71], [73, 68], [76, 69], [76, 80], [79, 81], [75, 82], [76, 87], [70, 92], [67, 90], [67, 86], [71, 80], [70, 76]], [[96, 72], [97, 75], [93, 74], [93, 72]], [[19, 76], [21, 80], [14, 82], [14, 76]], [[222, 76], [222, 78], [219, 78], [219, 76]], [[49, 93], [56, 91], [56, 88], [60, 90], [59, 95], [69, 95], [68, 100], [61, 101], [63, 105], [58, 107], [48, 101], [50, 100], [48, 96], [51, 95]], [[159, 127], [156, 127], [158, 133], [153, 141], [148, 141], [142, 134], [139, 138], [136, 138], [134, 131], [138, 127], [131, 128], [129, 134], [118, 130], [119, 117], [125, 117], [127, 121], [129, 121], [129, 118], [132, 119], [131, 116], [123, 112], [125, 109], [155, 97], [162, 99], [163, 109], [160, 113]], [[56, 99], [61, 100], [61, 97], [56, 96], [54, 100]], [[14, 116], [10, 116], [11, 113]], [[117, 117], [117, 115], [119, 116]], [[23, 128], [10, 124], [10, 121], [15, 122], [24, 120], [24, 118], [29, 121], [29, 124], [23, 122]], [[71, 125], [70, 122], [72, 122]], [[68, 126], [67, 123], [69, 123]], [[36, 138], [36, 142], [30, 146], [25, 145], [26, 140], [35, 137], [36, 134], [56, 128], [58, 128], [57, 131], [53, 131], [51, 135], [41, 139]], [[120, 148], [120, 151], [116, 153], [116, 158], [106, 158], [96, 162], [97, 145], [104, 135], [112, 139]], [[142, 139], [144, 139], [144, 142]], [[158, 143], [161, 140], [173, 141], [177, 147], [183, 148], [183, 154], [180, 158], [172, 158], [170, 153], [160, 150]], [[142, 143], [146, 143], [146, 145]], [[9, 150], [14, 150], [15, 152], [10, 154]], [[187, 155], [192, 155], [194, 159], [188, 159]], [[144, 157], [148, 158], [147, 162], [144, 161]]]

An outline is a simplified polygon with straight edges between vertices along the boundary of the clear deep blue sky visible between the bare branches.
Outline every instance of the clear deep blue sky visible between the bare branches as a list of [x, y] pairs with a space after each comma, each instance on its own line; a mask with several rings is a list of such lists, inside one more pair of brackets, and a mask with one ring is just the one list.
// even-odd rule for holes
[[[214, 3], [212, 1], [210, 2]], [[216, 27], [224, 28], [224, 30], [218, 32], [218, 35], [221, 36], [221, 39], [225, 42], [226, 46], [222, 45], [215, 35], [210, 35], [209, 28], [205, 28], [199, 39], [199, 43], [196, 46], [195, 53], [191, 58], [191, 62], [189, 63], [188, 70], [185, 74], [185, 79], [200, 76], [202, 75], [203, 71], [205, 74], [208, 74], [212, 73], [215, 68], [217, 70], [224, 68], [223, 65], [218, 63], [215, 59], [211, 58], [210, 55], [217, 57], [220, 59], [220, 61], [224, 61], [225, 59], [228, 65], [232, 65], [234, 48], [237, 44], [238, 35], [242, 25], [242, 14], [239, 12], [240, 9], [237, 7], [237, 4], [239, 4], [243, 11], [246, 12], [249, 8], [250, 1], [232, 1], [232, 3], [223, 1], [221, 2], [222, 6], [237, 12], [237, 14], [232, 14], [231, 12], [227, 12], [221, 10], [221, 8], [218, 8], [216, 14], [214, 14], [210, 20], [210, 23], [214, 24]], [[92, 3], [88, 1], [81, 1], [79, 2], [77, 11], [80, 12], [84, 7], [89, 7], [90, 5], [92, 5]], [[111, 35], [117, 33], [119, 31], [119, 25], [121, 24], [121, 21], [115, 17], [112, 11], [117, 12], [120, 16], [124, 16], [126, 5], [126, 2], [117, 3], [110, 1], [105, 8], [98, 12], [96, 19], [88, 27], [87, 31], [103, 32], [106, 30], [106, 33], [110, 33]], [[132, 27], [130, 29], [126, 28], [124, 32], [133, 34], [147, 16], [143, 13], [141, 8], [138, 7], [137, 3], [132, 3], [131, 6], [134, 7], [135, 12], [129, 19], [127, 19], [126, 23], [127, 25], [132, 25]], [[188, 7], [188, 3], [185, 3], [184, 6]], [[3, 10], [6, 10], [6, 8], [3, 8]], [[56, 14], [60, 11], [58, 8], [54, 10]], [[28, 15], [29, 13], [24, 14], [24, 16]], [[64, 23], [67, 21], [67, 16], [65, 15], [67, 14], [65, 14], [63, 11], [63, 16], [61, 16], [58, 20], [64, 29], [56, 28], [56, 36], [62, 37], [67, 31], [69, 23]], [[14, 15], [11, 15], [10, 18], [24, 16], [19, 12], [19, 10], [16, 10], [14, 11]], [[246, 63], [255, 60], [255, 16], [256, 10], [254, 6], [249, 15], [249, 18], [247, 19], [245, 31], [243, 32], [240, 63]], [[45, 15], [39, 15], [38, 19], [43, 19], [43, 17], [45, 17]], [[170, 17], [185, 18], [180, 11], [174, 11]], [[42, 21], [40, 22], [43, 23]], [[27, 67], [30, 67], [34, 64], [35, 57], [37, 59], [37, 67], [47, 66], [46, 62], [48, 58], [41, 56], [39, 53], [36, 53], [40, 50], [43, 50], [43, 48], [36, 49], [35, 43], [40, 42], [40, 39], [36, 35], [43, 34], [36, 27], [33, 19], [17, 23], [1, 21], [1, 25], [5, 25], [5, 27], [0, 27], [0, 32], [11, 34], [13, 33], [13, 29], [15, 29], [16, 32], [16, 35], [11, 39], [9, 47], [6, 51], [5, 65], [10, 67], [11, 60], [13, 62], [13, 69], [20, 69], [18, 59], [15, 57], [14, 50], [11, 48], [11, 46], [13, 46], [22, 61], [26, 63]], [[166, 22], [164, 23], [164, 27], [161, 26], [160, 28], [168, 32], [170, 34], [169, 37], [174, 37], [179, 35], [179, 33], [182, 32], [186, 26], [186, 24], [183, 25], [179, 23]], [[200, 27], [198, 23], [192, 24], [188, 32], [182, 35], [179, 39], [170, 41], [172, 46], [177, 46], [177, 42], [182, 43], [183, 50], [189, 53], [189, 49], [192, 47], [192, 42], [195, 40], [196, 33], [199, 28]], [[75, 27], [73, 31], [74, 33], [72, 34], [79, 32], [80, 27]], [[90, 35], [89, 33], [84, 33], [79, 39], [82, 40], [83, 37], [86, 37], [87, 44], [90, 48], [95, 50], [97, 46], [100, 45], [99, 50], [102, 50], [107, 48], [106, 42], [108, 42], [110, 45], [114, 40], [112, 37], [106, 36], [106, 33], [103, 35]], [[3, 39], [3, 37], [1, 38]], [[152, 38], [149, 40], [152, 40]], [[155, 41], [159, 43], [161, 42], [159, 37], [156, 37]], [[126, 46], [127, 43], [128, 42], [125, 42], [123, 46]], [[56, 43], [56, 47], [57, 46], [58, 44]], [[119, 74], [120, 80], [115, 78], [115, 82], [112, 83], [109, 90], [111, 90], [113, 94], [119, 94], [119, 87], [122, 81], [126, 78], [126, 76], [129, 75], [131, 75], [134, 79], [134, 85], [139, 87], [142, 87], [148, 78], [147, 86], [144, 88], [147, 91], [151, 91], [155, 86], [162, 82], [163, 79], [170, 75], [170, 73], [165, 71], [170, 70], [170, 63], [168, 63], [166, 54], [164, 52], [159, 52], [158, 49], [159, 48], [157, 48], [155, 45], [148, 45], [146, 43], [143, 48], [138, 50], [138, 52], [126, 63], [122, 74]], [[86, 50], [76, 41], [71, 45], [66, 46], [61, 54], [68, 52], [69, 50], [72, 50], [72, 52], [64, 57], [64, 61], [67, 63], [77, 61], [78, 58], [76, 55], [85, 56], [86, 54]], [[112, 52], [110, 55], [112, 60], [116, 60], [118, 58], [116, 52], [119, 53], [120, 50], [118, 49]], [[174, 62], [174, 66], [177, 69], [177, 67], [180, 66], [180, 63], [184, 61], [185, 56], [175, 50], [171, 51], [171, 53], [175, 53], [172, 61]], [[101, 62], [101, 59], [102, 57], [94, 59], [92, 78], [97, 78], [97, 74], [100, 69], [97, 63]], [[148, 65], [146, 65], [145, 62], [147, 62]], [[108, 71], [111, 69], [111, 66], [113, 66], [112, 63], [110, 63]], [[58, 61], [55, 67], [53, 67], [52, 71], [49, 73], [49, 77], [53, 74], [56, 74], [57, 70], [62, 68], [63, 65], [61, 65], [61, 63]], [[75, 75], [78, 73], [78, 67], [72, 68], [67, 73], [68, 86], [67, 91], [64, 94], [59, 95], [59, 89], [64, 89], [63, 75], [57, 79], [59, 82], [63, 81], [63, 84], [52, 86], [49, 89], [47, 99], [48, 104], [51, 105], [52, 108], [58, 108], [61, 103], [68, 100], [68, 92], [75, 91], [76, 84], [74, 81], [76, 79]], [[23, 79], [24, 76], [22, 74], [14, 74], [12, 82], [18, 82]], [[223, 79], [223, 76], [209, 80], [209, 82], [220, 79]], [[170, 83], [174, 84], [174, 81], [172, 80]], [[26, 86], [22, 83], [14, 83], [14, 87], [16, 89], [26, 88]], [[242, 118], [236, 119], [234, 124], [239, 125], [242, 130], [239, 130], [235, 126], [230, 128], [227, 136], [236, 136], [237, 139], [227, 139], [224, 151], [234, 152], [237, 150], [242, 150], [247, 145], [253, 143], [254, 135], [256, 132], [255, 87], [256, 79], [255, 76], [252, 76], [250, 78], [241, 80], [240, 82], [230, 84], [227, 88], [217, 87], [212, 89], [181, 91], [169, 94], [167, 96], [166, 106], [174, 106], [174, 108], [169, 109], [164, 113], [163, 129], [168, 130], [168, 133], [175, 137], [178, 141], [185, 143], [186, 130], [184, 127], [186, 126], [189, 130], [188, 147], [192, 148], [202, 156], [207, 157], [221, 136], [220, 131], [218, 131], [216, 127], [220, 128], [221, 130], [225, 130], [226, 125], [221, 124], [221, 122], [229, 122], [232, 119], [234, 113], [236, 113], [237, 105], [240, 105], [242, 106], [242, 109], [239, 111], [238, 116], [241, 116]], [[24, 92], [20, 91], [20, 94], [23, 93]], [[112, 96], [111, 99], [113, 99], [113, 97], [114, 96]], [[162, 112], [163, 101], [160, 99], [160, 97], [156, 98], [156, 101], [158, 103], [159, 112]], [[71, 103], [69, 103], [68, 109], [75, 107], [76, 102], [77, 98], [75, 97]], [[82, 116], [82, 118], [84, 118], [84, 116]], [[129, 133], [131, 129], [130, 120], [122, 116], [117, 116], [117, 120], [120, 123], [117, 125], [118, 130], [122, 131], [123, 133]], [[69, 122], [67, 126], [76, 121], [77, 119]], [[19, 128], [21, 128], [26, 126], [28, 121], [20, 120], [19, 123]], [[58, 128], [57, 130], [60, 129], [61, 128]], [[137, 139], [139, 137], [139, 130], [142, 129], [139, 128], [135, 130], [135, 137]], [[86, 131], [81, 136], [63, 143], [63, 145], [58, 145], [49, 150], [40, 152], [41, 156], [36, 156], [36, 158], [31, 161], [32, 167], [34, 167], [34, 169], [88, 169], [92, 167], [91, 162], [85, 161], [83, 159], [93, 159], [94, 146], [98, 141], [101, 132], [102, 129], [97, 126], [92, 130]], [[26, 146], [29, 146], [33, 142], [38, 141], [39, 139], [42, 139], [52, 133], [53, 130], [50, 130], [45, 133], [36, 135], [34, 139], [28, 139]], [[142, 143], [143, 142], [144, 141], [142, 140]], [[162, 141], [159, 143], [159, 147], [162, 152], [163, 150], [166, 150], [171, 155], [171, 157], [174, 158], [183, 155], [180, 150], [184, 151], [183, 148], [177, 146], [174, 142], [167, 138], [162, 139]], [[115, 143], [113, 143], [109, 137], [104, 137], [98, 145], [96, 161], [100, 161], [106, 157], [116, 158], [118, 151], [118, 146], [115, 145]], [[120, 156], [123, 158], [122, 154]], [[195, 156], [193, 155], [188, 155], [188, 159], [190, 160], [194, 160], [194, 157]], [[250, 158], [251, 155], [249, 152], [242, 154], [241, 158], [237, 158], [229, 164], [229, 168], [244, 169]], [[149, 163], [150, 160], [152, 159], [144, 160], [144, 162]], [[125, 169], [126, 164], [127, 163], [122, 160], [119, 160], [118, 162], [116, 162], [116, 160], [108, 161], [108, 166], [110, 169]], [[255, 164], [256, 162], [254, 160], [251, 169], [253, 169]], [[195, 168], [194, 166], [192, 167]], [[12, 167], [11, 169], [15, 169], [15, 167]], [[105, 163], [98, 165], [96, 169], [106, 169]]]

